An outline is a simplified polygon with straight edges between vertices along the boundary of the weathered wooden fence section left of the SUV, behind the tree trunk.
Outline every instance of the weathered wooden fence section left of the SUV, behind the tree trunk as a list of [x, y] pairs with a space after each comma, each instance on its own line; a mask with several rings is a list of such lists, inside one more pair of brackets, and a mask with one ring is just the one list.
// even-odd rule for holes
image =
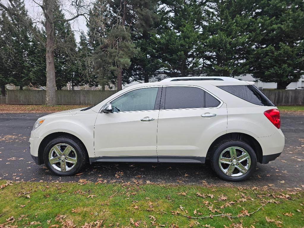
[[[58, 105], [95, 105], [113, 95], [115, 90], [56, 90]], [[2, 104], [43, 105], [45, 90], [7, 90]]]

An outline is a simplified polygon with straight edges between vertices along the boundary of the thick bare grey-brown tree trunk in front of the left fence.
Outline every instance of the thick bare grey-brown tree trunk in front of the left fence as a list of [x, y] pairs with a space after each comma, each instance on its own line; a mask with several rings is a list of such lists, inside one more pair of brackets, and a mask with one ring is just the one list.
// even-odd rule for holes
[[56, 81], [55, 81], [55, 65], [54, 65], [54, 23], [53, 23], [53, 0], [43, 0], [45, 5], [45, 29], [47, 33], [47, 47], [46, 47], [46, 60], [47, 60], [47, 92], [45, 95], [46, 105], [56, 105]]

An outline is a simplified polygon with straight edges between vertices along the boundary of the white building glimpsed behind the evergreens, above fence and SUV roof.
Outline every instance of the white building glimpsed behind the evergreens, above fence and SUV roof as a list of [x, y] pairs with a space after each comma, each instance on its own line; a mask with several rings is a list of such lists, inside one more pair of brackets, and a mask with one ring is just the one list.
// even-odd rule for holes
[[[277, 83], [276, 82], [258, 81], [257, 79], [252, 77], [252, 74], [245, 74], [244, 76], [237, 76], [237, 77], [234, 77], [234, 78], [237, 78], [241, 81], [255, 81], [254, 85], [259, 89], [276, 89], [277, 88]], [[136, 84], [139, 84], [139, 83], [140, 82], [138, 82], [138, 81], [133, 81], [130, 84], [123, 85], [123, 89], [127, 88], [131, 85], [136, 85]], [[299, 79], [299, 81], [292, 82], [287, 86], [287, 89], [301, 89], [301, 88], [304, 89], [304, 75], [302, 75], [302, 77]]]

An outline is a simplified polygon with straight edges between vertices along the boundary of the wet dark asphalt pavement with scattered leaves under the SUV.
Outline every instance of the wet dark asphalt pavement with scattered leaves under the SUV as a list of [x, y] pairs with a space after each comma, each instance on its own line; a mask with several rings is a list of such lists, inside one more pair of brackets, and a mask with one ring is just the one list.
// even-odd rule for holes
[[257, 164], [246, 181], [231, 183], [219, 179], [209, 164], [178, 163], [93, 163], [78, 175], [59, 177], [44, 165], [36, 165], [29, 153], [33, 124], [48, 113], [0, 113], [0, 179], [14, 181], [79, 181], [104, 183], [170, 183], [195, 185], [273, 186], [304, 185], [304, 113], [281, 113], [285, 148], [268, 164]]

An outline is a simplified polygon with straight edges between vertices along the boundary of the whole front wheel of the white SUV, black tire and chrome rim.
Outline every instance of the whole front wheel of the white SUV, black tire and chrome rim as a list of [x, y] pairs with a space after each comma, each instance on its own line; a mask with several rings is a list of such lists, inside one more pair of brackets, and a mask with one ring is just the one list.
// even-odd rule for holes
[[70, 176], [85, 166], [88, 154], [79, 140], [70, 136], [60, 136], [47, 144], [43, 151], [43, 159], [44, 164], [54, 174]]

